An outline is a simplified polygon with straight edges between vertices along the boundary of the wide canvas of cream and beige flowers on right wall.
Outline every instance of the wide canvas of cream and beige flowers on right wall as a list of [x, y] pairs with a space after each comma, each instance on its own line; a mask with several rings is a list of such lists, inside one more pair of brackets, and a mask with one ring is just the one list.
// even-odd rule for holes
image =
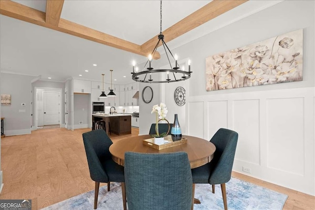
[[302, 64], [301, 29], [206, 58], [206, 90], [301, 81]]

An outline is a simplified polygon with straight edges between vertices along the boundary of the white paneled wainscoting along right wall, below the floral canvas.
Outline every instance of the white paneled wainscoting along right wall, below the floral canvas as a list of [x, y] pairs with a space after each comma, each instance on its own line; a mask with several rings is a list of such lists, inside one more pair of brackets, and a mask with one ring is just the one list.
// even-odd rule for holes
[[221, 92], [187, 98], [187, 134], [210, 140], [221, 127], [235, 130], [234, 171], [315, 195], [314, 87]]

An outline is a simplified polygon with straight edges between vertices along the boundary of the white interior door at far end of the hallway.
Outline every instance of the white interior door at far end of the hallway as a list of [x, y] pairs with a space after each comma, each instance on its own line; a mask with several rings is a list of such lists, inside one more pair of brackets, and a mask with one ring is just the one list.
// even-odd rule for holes
[[44, 92], [44, 125], [60, 124], [59, 92]]

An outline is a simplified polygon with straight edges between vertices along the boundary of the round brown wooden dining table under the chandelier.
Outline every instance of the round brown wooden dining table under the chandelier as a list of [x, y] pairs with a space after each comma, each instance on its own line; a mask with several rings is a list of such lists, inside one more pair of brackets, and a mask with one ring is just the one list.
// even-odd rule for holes
[[134, 136], [115, 142], [109, 147], [109, 151], [112, 154], [113, 160], [122, 166], [124, 166], [126, 151], [140, 153], [168, 153], [185, 151], [188, 154], [190, 168], [203, 166], [212, 160], [216, 150], [216, 146], [214, 144], [198, 137], [186, 135], [183, 135], [182, 137], [187, 138], [187, 143], [163, 150], [157, 150], [142, 144], [142, 140], [152, 138], [150, 135]]

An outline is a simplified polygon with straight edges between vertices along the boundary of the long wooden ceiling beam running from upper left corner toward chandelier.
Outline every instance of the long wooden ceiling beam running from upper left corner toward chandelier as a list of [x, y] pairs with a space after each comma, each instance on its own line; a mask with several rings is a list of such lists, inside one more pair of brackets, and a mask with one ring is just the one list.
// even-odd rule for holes
[[[54, 1], [54, 0], [52, 0]], [[61, 10], [60, 10], [61, 11]], [[26, 21], [32, 24], [43, 26], [49, 29], [58, 30], [80, 38], [95, 41], [104, 45], [115, 47], [131, 53], [142, 56], [148, 56], [148, 51], [141, 51], [140, 45], [126, 41], [124, 39], [90, 29], [88, 27], [64, 20], [60, 18], [58, 26], [46, 23], [45, 12], [33, 9], [23, 4], [11, 1], [0, 0], [0, 14], [6, 15], [15, 19]], [[157, 52], [154, 59], [159, 59], [160, 54]]]

